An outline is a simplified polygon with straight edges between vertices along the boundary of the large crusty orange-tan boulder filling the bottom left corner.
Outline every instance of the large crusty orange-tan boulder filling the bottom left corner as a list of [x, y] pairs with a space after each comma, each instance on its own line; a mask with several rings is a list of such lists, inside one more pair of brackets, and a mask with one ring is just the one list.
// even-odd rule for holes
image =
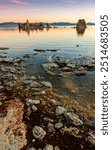
[[23, 123], [24, 105], [17, 100], [6, 103], [7, 113], [0, 118], [0, 149], [20, 150], [26, 145], [26, 125]]

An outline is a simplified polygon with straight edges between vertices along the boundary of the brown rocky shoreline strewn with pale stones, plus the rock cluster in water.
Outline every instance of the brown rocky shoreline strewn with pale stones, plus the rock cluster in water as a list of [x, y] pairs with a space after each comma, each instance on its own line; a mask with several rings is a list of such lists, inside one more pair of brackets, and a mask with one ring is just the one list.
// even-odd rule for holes
[[[94, 150], [94, 106], [84, 109], [43, 77], [28, 76], [22, 61], [0, 54], [0, 149]], [[94, 63], [50, 56], [42, 68], [54, 76], [85, 75]]]

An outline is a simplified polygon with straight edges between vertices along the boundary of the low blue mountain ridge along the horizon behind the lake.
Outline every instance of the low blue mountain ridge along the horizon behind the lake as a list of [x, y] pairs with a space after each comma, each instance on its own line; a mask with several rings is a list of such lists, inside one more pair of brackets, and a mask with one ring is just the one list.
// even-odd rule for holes
[[[43, 22], [43, 24], [47, 24], [47, 22]], [[76, 23], [70, 23], [70, 22], [53, 22], [53, 23], [49, 23], [51, 26], [76, 26]], [[0, 23], [0, 27], [12, 27], [12, 26], [17, 26], [18, 23], [17, 22], [3, 22]], [[93, 22], [87, 22], [86, 25], [89, 26], [94, 26], [95, 23]]]

